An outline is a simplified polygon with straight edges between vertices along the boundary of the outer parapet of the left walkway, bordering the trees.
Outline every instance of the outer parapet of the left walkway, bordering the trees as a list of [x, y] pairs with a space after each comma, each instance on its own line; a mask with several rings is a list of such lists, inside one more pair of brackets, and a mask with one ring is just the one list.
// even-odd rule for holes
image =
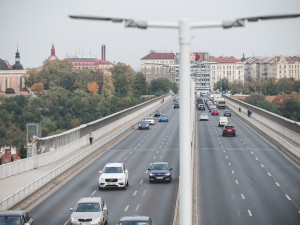
[[[122, 110], [107, 117], [83, 124], [61, 134], [36, 139], [32, 143], [35, 153], [32, 157], [0, 165], [0, 179], [22, 173], [55, 162], [77, 149], [89, 144], [88, 135], [93, 132], [94, 140], [113, 131], [122, 124], [161, 105], [161, 99], [171, 99], [169, 94], [151, 99], [147, 102]], [[151, 111], [150, 110], [150, 111]]]

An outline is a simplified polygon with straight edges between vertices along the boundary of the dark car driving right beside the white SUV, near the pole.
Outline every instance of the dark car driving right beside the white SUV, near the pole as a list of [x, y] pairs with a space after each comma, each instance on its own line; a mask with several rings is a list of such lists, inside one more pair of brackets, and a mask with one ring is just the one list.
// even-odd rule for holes
[[155, 162], [152, 164], [151, 168], [148, 169], [149, 172], [149, 182], [163, 181], [171, 182], [173, 168], [169, 168], [169, 163], [167, 162]]

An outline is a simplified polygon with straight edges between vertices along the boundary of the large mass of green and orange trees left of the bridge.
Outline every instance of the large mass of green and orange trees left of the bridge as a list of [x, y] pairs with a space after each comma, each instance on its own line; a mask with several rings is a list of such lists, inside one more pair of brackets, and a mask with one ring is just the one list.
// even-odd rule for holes
[[124, 63], [109, 74], [73, 70], [67, 59], [45, 61], [40, 71], [27, 71], [25, 85], [35, 97], [0, 96], [0, 146], [26, 146], [27, 123], [41, 123], [42, 137], [50, 136], [139, 104], [149, 94], [178, 92], [168, 79], [148, 84], [143, 73]]

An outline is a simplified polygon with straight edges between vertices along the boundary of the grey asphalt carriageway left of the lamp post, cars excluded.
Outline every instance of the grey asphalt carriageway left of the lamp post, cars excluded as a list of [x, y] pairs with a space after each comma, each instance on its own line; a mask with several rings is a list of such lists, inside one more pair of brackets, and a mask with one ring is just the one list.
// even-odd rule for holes
[[[156, 118], [150, 130], [134, 130], [30, 211], [35, 224], [68, 224], [69, 209], [80, 198], [101, 196], [108, 207], [108, 224], [117, 224], [125, 215], [148, 215], [156, 225], [171, 225], [178, 191], [179, 110], [170, 103], [163, 112], [168, 113], [168, 123]], [[147, 169], [155, 161], [168, 161], [173, 167], [170, 184], [149, 184]], [[98, 190], [99, 170], [108, 162], [125, 163], [127, 190]]]

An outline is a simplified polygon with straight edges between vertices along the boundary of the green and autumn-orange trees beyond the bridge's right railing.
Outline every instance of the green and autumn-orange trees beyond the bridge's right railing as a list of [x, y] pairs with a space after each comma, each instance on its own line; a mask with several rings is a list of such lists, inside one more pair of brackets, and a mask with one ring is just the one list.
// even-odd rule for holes
[[[288, 119], [300, 122], [300, 80], [294, 78], [261, 77], [258, 80], [247, 78], [245, 83], [229, 83], [222, 79], [215, 89], [229, 90], [231, 94], [242, 93], [249, 95], [246, 102]], [[267, 101], [265, 96], [276, 96], [273, 101]]]

